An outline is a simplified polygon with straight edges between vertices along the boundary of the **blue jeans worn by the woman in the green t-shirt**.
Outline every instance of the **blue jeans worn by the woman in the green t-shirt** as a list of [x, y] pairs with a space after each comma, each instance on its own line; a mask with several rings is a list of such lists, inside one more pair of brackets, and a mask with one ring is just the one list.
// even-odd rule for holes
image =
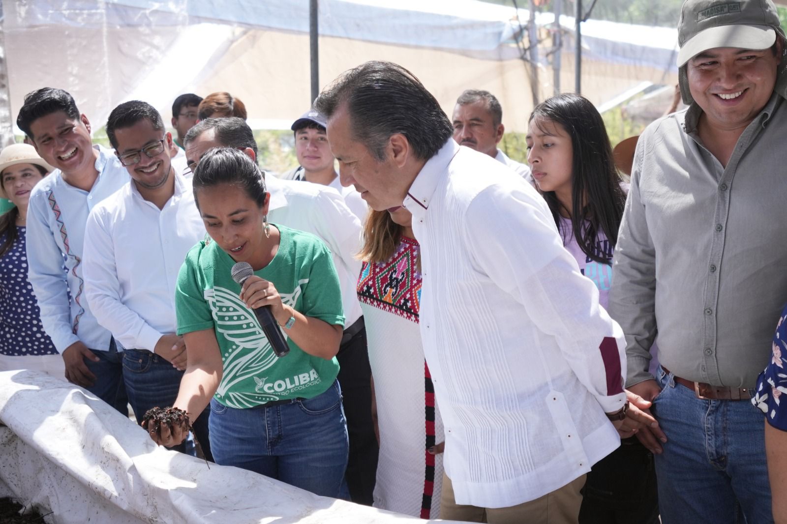
[[210, 401], [213, 457], [322, 496], [336, 497], [349, 443], [338, 382], [308, 400], [269, 408]]

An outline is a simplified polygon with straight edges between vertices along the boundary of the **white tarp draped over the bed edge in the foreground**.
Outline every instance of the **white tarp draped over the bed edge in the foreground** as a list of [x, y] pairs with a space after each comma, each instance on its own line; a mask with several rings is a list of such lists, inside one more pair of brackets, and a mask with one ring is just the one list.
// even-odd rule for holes
[[38, 372], [0, 373], [0, 422], [0, 496], [54, 511], [47, 522], [427, 522], [236, 467], [209, 469], [204, 460], [155, 445], [86, 390]]

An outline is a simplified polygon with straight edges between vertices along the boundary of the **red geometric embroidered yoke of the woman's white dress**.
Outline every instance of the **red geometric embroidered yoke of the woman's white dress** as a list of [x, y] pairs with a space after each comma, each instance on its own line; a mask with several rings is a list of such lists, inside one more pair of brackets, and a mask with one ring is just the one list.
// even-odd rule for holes
[[418, 242], [402, 237], [396, 253], [386, 262], [364, 262], [358, 300], [417, 323], [421, 301], [418, 253]]

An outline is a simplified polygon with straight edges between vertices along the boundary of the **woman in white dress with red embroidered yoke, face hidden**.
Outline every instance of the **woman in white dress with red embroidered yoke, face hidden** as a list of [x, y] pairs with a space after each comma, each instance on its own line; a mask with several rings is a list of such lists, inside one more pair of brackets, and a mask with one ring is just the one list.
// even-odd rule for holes
[[358, 299], [364, 310], [380, 452], [375, 507], [440, 517], [442, 419], [419, 330], [419, 244], [406, 208], [371, 210]]

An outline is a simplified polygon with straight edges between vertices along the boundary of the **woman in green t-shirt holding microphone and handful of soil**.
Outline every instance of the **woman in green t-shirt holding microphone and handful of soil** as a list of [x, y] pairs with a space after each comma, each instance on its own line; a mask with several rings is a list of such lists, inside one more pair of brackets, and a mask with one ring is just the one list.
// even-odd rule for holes
[[[327, 247], [267, 222], [270, 194], [251, 157], [210, 149], [194, 171], [194, 200], [212, 240], [190, 250], [176, 289], [188, 353], [174, 408], [194, 419], [210, 404], [216, 463], [242, 467], [323, 496], [338, 496], [347, 430], [335, 359], [342, 298]], [[236, 262], [254, 274], [239, 286]], [[253, 308], [269, 306], [290, 352], [277, 357]], [[187, 423], [151, 437], [179, 444]]]

